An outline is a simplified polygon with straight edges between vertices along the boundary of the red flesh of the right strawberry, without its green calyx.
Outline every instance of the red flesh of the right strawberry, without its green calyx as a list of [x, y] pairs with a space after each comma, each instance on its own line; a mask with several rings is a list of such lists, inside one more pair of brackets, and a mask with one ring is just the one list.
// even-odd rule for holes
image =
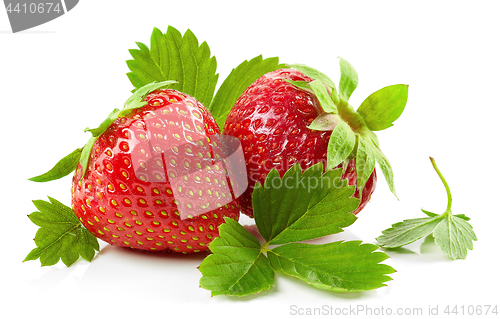
[[[294, 69], [280, 69], [267, 73], [250, 85], [236, 101], [229, 113], [224, 134], [240, 139], [248, 171], [249, 188], [241, 197], [241, 210], [253, 217], [252, 192], [256, 182], [276, 168], [283, 174], [295, 163], [306, 169], [323, 162], [326, 168], [327, 146], [331, 131], [311, 130], [310, 125], [323, 113], [312, 92], [299, 89], [285, 81], [312, 79]], [[339, 167], [341, 167], [339, 165]], [[348, 164], [344, 178], [356, 185], [355, 160]], [[376, 185], [375, 170], [363, 188], [357, 214], [371, 197]], [[359, 190], [355, 195], [359, 198]]]

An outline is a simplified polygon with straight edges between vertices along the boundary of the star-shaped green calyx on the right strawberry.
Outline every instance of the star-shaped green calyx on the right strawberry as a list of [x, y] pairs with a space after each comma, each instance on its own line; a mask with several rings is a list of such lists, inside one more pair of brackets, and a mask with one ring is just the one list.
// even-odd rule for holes
[[391, 127], [399, 118], [408, 99], [408, 85], [382, 88], [366, 98], [355, 110], [349, 104], [349, 98], [358, 85], [358, 75], [346, 60], [340, 58], [339, 64], [341, 77], [338, 90], [325, 74], [301, 64], [288, 67], [302, 72], [313, 81], [287, 82], [313, 93], [321, 105], [318, 117], [308, 128], [332, 131], [328, 143], [327, 168], [333, 169], [356, 158], [357, 185], [361, 194], [377, 162], [389, 189], [396, 195], [391, 165], [380, 149], [374, 131]]

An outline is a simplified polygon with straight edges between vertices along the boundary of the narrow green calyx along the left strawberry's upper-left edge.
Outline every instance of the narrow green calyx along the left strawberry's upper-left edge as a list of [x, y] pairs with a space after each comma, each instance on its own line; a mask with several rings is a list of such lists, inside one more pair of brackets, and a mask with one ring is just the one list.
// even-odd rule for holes
[[126, 117], [133, 110], [139, 109], [146, 105], [147, 102], [144, 101], [144, 97], [146, 95], [153, 92], [154, 90], [165, 88], [175, 83], [177, 83], [177, 81], [152, 82], [138, 89], [135, 89], [132, 96], [128, 98], [127, 101], [125, 101], [125, 105], [121, 110], [114, 109], [98, 127], [93, 129], [90, 129], [88, 127], [85, 128], [84, 132], [90, 132], [92, 133], [92, 136], [83, 148], [74, 150], [72, 153], [60, 160], [51, 170], [42, 175], [30, 178], [29, 180], [35, 182], [48, 182], [59, 179], [71, 174], [76, 169], [78, 164], [82, 165], [83, 172], [81, 178], [83, 178], [87, 171], [92, 147], [94, 146], [94, 143], [99, 138], [99, 136], [101, 136], [101, 134], [103, 134], [116, 119], [120, 117]]

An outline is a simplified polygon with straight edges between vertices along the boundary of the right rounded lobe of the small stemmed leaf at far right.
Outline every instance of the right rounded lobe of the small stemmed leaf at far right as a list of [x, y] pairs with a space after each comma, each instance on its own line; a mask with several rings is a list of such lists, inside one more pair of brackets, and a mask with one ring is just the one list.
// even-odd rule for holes
[[463, 217], [448, 215], [436, 226], [434, 240], [443, 253], [455, 260], [467, 257], [467, 250], [472, 250], [472, 242], [477, 237]]

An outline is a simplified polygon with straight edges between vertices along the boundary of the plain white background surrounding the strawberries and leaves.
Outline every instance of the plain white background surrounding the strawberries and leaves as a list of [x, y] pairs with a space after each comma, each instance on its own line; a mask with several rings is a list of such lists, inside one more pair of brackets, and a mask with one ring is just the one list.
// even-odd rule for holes
[[[54, 21], [12, 34], [2, 8], [0, 311], [23, 318], [282, 318], [294, 317], [295, 305], [344, 312], [369, 307], [373, 316], [382, 307], [393, 313], [422, 308], [415, 317], [423, 318], [429, 307], [448, 317], [447, 305], [465, 305], [467, 312], [469, 305], [499, 304], [499, 9], [496, 1], [86, 0]], [[424, 217], [420, 208], [442, 213], [446, 195], [429, 162], [433, 156], [450, 184], [453, 212], [471, 218], [479, 238], [474, 250], [458, 261], [432, 242], [390, 251], [387, 263], [397, 273], [375, 291], [331, 293], [277, 275], [270, 291], [245, 298], [211, 298], [199, 288], [196, 267], [203, 256], [102, 243], [92, 263], [22, 263], [37, 230], [26, 217], [35, 210], [31, 200], [51, 196], [70, 204], [70, 177], [46, 184], [27, 178], [81, 147], [88, 139], [83, 129], [122, 106], [132, 89], [125, 75], [128, 49], [136, 41], [149, 45], [153, 27], [166, 31], [168, 25], [182, 33], [190, 28], [207, 41], [219, 84], [233, 67], [260, 54], [308, 64], [335, 81], [342, 56], [359, 74], [350, 100], [355, 106], [383, 86], [409, 84], [405, 112], [378, 134], [400, 200], [379, 174], [358, 221], [324, 241], [374, 243], [392, 223]]]

